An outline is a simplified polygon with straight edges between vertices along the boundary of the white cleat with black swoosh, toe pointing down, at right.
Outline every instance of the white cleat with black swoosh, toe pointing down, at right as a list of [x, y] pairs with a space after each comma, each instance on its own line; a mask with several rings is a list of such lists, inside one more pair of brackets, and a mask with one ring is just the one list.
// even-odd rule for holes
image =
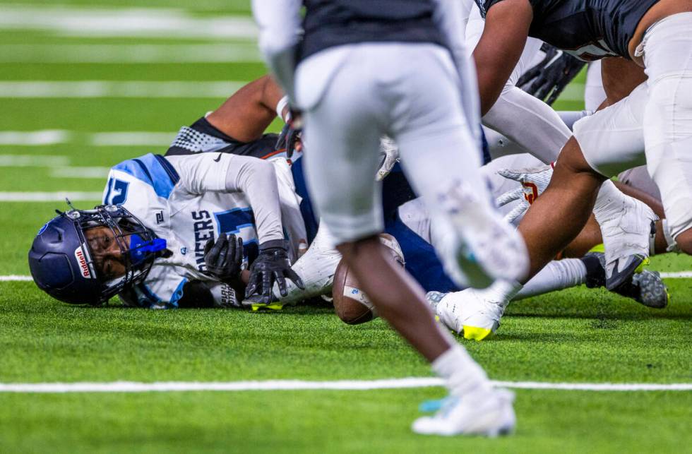
[[605, 248], [606, 288], [627, 282], [649, 256], [658, 216], [645, 203], [624, 196], [605, 210], [594, 211]]

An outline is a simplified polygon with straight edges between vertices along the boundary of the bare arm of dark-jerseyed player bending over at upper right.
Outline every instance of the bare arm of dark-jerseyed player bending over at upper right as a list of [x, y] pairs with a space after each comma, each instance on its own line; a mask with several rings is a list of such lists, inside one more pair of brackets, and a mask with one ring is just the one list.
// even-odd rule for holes
[[501, 0], [489, 7], [473, 52], [482, 115], [493, 107], [518, 63], [532, 19], [529, 0]]

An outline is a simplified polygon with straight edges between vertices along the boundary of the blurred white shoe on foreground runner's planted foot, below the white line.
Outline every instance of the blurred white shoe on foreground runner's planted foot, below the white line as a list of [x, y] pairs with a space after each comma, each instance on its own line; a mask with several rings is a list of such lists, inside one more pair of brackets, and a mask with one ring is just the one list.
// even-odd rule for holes
[[516, 425], [513, 401], [514, 394], [501, 389], [451, 396], [439, 412], [416, 419], [411, 429], [417, 434], [443, 436], [510, 434]]

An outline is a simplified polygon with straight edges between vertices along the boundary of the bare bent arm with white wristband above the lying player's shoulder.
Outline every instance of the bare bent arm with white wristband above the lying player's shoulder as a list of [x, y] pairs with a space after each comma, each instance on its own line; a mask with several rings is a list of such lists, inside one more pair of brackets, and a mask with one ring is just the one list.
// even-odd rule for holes
[[235, 92], [207, 116], [216, 129], [241, 142], [256, 141], [277, 115], [285, 119], [283, 90], [270, 76], [263, 76]]

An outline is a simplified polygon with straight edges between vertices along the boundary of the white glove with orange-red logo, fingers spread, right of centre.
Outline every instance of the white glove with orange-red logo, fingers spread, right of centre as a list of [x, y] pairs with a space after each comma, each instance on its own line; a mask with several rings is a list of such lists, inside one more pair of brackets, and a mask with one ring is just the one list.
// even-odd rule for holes
[[497, 172], [502, 177], [518, 181], [521, 186], [503, 193], [496, 199], [498, 206], [503, 206], [513, 201], [519, 201], [517, 205], [505, 215], [505, 220], [511, 224], [520, 219], [534, 203], [536, 198], [545, 191], [553, 176], [551, 165], [542, 165], [531, 169], [501, 169]]

